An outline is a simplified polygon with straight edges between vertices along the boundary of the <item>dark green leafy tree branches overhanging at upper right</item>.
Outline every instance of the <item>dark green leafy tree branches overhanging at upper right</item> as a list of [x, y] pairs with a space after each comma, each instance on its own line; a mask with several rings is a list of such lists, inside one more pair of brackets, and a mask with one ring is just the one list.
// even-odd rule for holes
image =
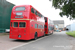
[[61, 17], [64, 15], [70, 19], [75, 18], [75, 0], [50, 0], [52, 1], [52, 6], [55, 9], [60, 9], [59, 13]]

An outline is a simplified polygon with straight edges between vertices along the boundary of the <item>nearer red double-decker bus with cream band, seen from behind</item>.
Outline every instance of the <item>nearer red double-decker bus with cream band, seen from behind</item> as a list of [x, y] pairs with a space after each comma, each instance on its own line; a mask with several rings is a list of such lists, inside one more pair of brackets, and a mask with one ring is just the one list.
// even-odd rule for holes
[[44, 16], [31, 5], [14, 6], [10, 22], [10, 38], [37, 39], [44, 36]]

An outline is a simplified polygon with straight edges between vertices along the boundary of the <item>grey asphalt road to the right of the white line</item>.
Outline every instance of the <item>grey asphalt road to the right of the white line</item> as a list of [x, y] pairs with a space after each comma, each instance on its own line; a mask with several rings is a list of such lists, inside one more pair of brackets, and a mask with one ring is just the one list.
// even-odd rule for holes
[[68, 36], [65, 32], [56, 32], [12, 48], [12, 50], [75, 50], [74, 44], [75, 38]]

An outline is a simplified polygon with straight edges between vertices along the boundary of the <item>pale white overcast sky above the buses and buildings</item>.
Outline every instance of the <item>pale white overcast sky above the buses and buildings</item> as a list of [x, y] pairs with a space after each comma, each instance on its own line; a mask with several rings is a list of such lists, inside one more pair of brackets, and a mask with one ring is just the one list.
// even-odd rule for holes
[[43, 16], [48, 17], [50, 20], [64, 20], [64, 27], [75, 22], [74, 20], [69, 20], [64, 17], [60, 17], [59, 9], [52, 7], [52, 2], [49, 0], [7, 0], [13, 4], [17, 5], [32, 5], [36, 10], [38, 10]]

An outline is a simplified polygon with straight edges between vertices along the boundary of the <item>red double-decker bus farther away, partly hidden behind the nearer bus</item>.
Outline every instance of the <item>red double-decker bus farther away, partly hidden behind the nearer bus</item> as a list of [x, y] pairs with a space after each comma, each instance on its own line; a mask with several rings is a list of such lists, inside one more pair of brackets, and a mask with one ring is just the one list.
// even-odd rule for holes
[[49, 34], [53, 34], [53, 31], [54, 31], [54, 24], [53, 22], [48, 19], [47, 17], [44, 17], [45, 18], [45, 34], [46, 35], [49, 35]]

